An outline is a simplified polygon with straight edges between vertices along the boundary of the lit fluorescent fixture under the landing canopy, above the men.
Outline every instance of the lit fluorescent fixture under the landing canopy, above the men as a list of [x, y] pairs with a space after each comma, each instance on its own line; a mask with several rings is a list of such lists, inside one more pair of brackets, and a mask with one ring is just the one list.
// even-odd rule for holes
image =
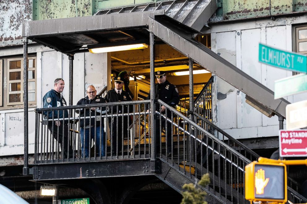
[[107, 44], [95, 44], [89, 45], [89, 52], [91, 53], [103, 53], [103, 52], [116, 52], [123, 50], [136, 50], [148, 48], [148, 44], [140, 41], [126, 41], [126, 42], [115, 42]]

